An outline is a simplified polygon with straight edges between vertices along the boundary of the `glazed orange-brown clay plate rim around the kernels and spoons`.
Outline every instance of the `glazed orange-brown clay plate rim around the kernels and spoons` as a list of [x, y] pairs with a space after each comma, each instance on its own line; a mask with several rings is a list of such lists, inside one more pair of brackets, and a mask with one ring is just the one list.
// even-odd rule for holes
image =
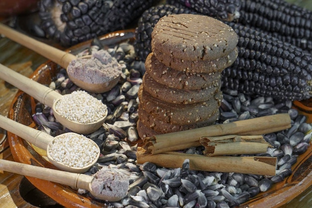
[[[117, 31], [99, 39], [105, 42], [120, 42], [128, 38], [134, 38], [133, 30]], [[80, 49], [90, 46], [91, 41], [80, 43], [69, 50], [76, 53]], [[40, 65], [31, 78], [42, 84], [49, 84], [51, 79], [55, 77], [59, 67], [48, 61]], [[18, 91], [11, 106], [8, 117], [14, 121], [36, 128], [31, 115], [34, 113], [35, 100]], [[10, 132], [8, 141], [10, 150], [15, 161], [36, 166], [56, 169], [52, 164], [47, 162], [32, 146], [24, 142], [23, 139], [17, 137]], [[312, 146], [305, 154], [298, 157], [298, 162], [293, 165], [293, 174], [287, 177], [283, 182], [275, 184], [269, 191], [257, 195], [248, 202], [241, 204], [240, 208], [278, 208], [291, 201], [310, 186], [312, 186]], [[59, 185], [56, 183], [39, 180], [31, 177], [27, 179], [40, 191], [51, 197], [60, 205], [66, 208], [106, 208], [104, 203], [89, 199], [78, 195], [75, 190], [70, 187]]]

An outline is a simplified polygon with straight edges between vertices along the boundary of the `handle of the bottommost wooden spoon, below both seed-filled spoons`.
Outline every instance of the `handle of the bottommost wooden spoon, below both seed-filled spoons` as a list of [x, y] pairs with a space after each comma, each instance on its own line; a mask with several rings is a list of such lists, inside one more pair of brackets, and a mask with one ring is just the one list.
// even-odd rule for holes
[[0, 159], [0, 170], [89, 190], [93, 177]]

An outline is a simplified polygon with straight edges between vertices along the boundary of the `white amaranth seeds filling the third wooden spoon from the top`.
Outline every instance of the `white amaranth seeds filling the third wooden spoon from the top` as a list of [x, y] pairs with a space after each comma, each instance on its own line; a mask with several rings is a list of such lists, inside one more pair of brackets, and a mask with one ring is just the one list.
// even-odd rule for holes
[[50, 157], [69, 167], [83, 168], [90, 165], [98, 156], [99, 148], [83, 135], [61, 134], [49, 144]]

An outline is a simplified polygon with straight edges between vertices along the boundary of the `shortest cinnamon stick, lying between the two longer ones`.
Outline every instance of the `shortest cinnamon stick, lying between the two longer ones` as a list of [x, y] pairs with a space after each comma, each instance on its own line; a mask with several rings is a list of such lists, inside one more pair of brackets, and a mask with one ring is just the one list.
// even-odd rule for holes
[[262, 135], [202, 137], [199, 142], [207, 156], [266, 153], [268, 147], [272, 147]]

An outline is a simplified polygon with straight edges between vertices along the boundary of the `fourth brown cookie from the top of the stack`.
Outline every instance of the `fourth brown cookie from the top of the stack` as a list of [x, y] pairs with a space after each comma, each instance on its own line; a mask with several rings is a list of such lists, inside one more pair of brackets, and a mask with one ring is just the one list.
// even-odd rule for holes
[[190, 104], [209, 100], [220, 90], [221, 80], [219, 82], [199, 90], [174, 89], [156, 82], [149, 73], [143, 76], [143, 89], [153, 97], [163, 102], [174, 104]]

